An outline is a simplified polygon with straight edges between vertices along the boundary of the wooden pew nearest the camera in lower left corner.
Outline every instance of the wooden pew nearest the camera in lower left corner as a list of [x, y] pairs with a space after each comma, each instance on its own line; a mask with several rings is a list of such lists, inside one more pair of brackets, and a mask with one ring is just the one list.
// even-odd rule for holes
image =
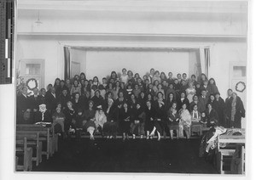
[[19, 165], [19, 159], [16, 159], [16, 171], [32, 171], [32, 148], [27, 147], [26, 137], [16, 140], [16, 156], [17, 155], [23, 155], [23, 165]]

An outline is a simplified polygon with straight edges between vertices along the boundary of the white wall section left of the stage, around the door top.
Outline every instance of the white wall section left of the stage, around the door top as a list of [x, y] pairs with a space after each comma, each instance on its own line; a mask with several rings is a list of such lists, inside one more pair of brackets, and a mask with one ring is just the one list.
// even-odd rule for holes
[[[44, 86], [64, 77], [64, 53], [58, 41], [52, 38], [18, 37], [16, 68], [21, 59], [44, 59]], [[63, 59], [63, 60], [60, 60]]]

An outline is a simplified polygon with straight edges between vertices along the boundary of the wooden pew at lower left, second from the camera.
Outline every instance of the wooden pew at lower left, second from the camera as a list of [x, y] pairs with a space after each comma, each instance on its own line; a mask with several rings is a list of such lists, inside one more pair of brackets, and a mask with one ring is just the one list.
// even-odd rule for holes
[[20, 140], [26, 137], [26, 142], [28, 147], [36, 150], [36, 155], [32, 156], [32, 160], [36, 161], [36, 166], [39, 165], [39, 162], [42, 162], [42, 148], [43, 143], [39, 141], [39, 132], [38, 133], [16, 133], [16, 140]]

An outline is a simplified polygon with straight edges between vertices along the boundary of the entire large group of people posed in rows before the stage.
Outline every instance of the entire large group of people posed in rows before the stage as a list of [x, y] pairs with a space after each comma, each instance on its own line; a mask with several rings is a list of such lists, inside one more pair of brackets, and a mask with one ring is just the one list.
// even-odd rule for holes
[[112, 71], [102, 82], [81, 73], [32, 92], [29, 96], [25, 86], [17, 97], [17, 123], [51, 122], [63, 135], [88, 132], [91, 139], [99, 133], [160, 140], [164, 132], [171, 139], [190, 138], [193, 124], [241, 128], [245, 116], [241, 98], [231, 89], [221, 98], [213, 78], [166, 76], [153, 68], [145, 76], [125, 68], [120, 76]]

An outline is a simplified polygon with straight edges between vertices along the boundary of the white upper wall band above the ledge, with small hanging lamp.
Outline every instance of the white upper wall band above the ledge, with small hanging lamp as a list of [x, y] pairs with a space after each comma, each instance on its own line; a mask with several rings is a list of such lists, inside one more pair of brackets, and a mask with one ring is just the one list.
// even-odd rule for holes
[[19, 32], [214, 36], [247, 34], [247, 14], [239, 14], [239, 12], [237, 14], [207, 14], [40, 10], [40, 20], [43, 24], [39, 26], [35, 24], [38, 19], [38, 10], [20, 9], [18, 15]]

